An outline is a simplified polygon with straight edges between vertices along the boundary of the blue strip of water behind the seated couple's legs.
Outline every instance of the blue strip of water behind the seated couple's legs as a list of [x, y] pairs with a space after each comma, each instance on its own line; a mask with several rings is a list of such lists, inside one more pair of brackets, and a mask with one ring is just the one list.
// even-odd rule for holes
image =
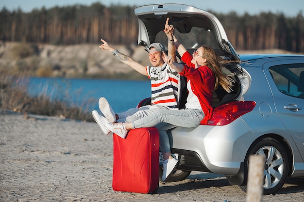
[[98, 99], [105, 97], [115, 112], [135, 108], [151, 96], [150, 80], [110, 80], [83, 78], [29, 78], [30, 95], [70, 102], [84, 111], [98, 110]]

